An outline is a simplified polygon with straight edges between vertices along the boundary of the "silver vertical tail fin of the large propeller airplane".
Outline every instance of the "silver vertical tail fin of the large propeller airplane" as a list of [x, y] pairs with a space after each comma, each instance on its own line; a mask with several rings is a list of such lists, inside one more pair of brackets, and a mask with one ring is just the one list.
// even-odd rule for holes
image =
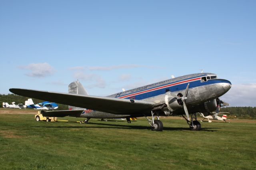
[[[77, 80], [68, 85], [68, 93], [76, 95], [89, 95], [84, 86]], [[68, 106], [68, 110], [84, 110], [84, 108]]]

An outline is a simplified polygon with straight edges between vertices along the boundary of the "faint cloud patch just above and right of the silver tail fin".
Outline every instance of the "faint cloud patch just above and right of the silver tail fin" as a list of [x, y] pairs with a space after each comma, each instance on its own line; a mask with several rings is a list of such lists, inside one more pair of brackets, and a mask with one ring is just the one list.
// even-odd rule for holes
[[87, 88], [93, 88], [93, 87], [105, 88], [106, 87], [106, 82], [104, 81], [104, 79], [102, 79], [102, 77], [97, 74], [85, 74], [83, 72], [76, 72], [74, 73], [74, 78], [85, 80], [86, 83], [89, 84]]

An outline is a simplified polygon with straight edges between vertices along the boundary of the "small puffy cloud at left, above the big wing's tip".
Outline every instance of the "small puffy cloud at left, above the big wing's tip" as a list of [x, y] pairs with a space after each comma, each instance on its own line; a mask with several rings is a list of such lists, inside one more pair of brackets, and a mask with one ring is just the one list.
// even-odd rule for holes
[[49, 63], [31, 63], [29, 65], [19, 66], [19, 68], [30, 70], [29, 73], [26, 73], [29, 77], [47, 77], [55, 72]]

